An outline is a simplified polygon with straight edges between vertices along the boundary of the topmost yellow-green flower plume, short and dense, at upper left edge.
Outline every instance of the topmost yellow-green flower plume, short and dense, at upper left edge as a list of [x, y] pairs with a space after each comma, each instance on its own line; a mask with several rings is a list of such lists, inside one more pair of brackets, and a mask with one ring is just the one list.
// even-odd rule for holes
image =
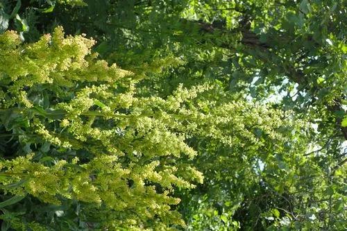
[[6, 31], [0, 35], [0, 44], [0, 80], [11, 83], [6, 93], [13, 98], [6, 106], [16, 101], [28, 103], [22, 92], [24, 87], [39, 84], [71, 87], [77, 82], [94, 81], [112, 83], [131, 74], [117, 65], [109, 67], [104, 60], [95, 60], [96, 55], [90, 52], [94, 40], [82, 35], [65, 38], [61, 27], [33, 44], [21, 44], [15, 31]]

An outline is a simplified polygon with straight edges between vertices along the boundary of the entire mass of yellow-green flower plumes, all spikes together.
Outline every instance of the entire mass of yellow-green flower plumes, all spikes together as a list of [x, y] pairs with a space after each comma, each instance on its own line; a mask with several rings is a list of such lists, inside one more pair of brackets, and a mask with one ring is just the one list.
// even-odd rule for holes
[[[54, 160], [47, 164], [33, 159], [35, 149], [2, 161], [0, 184], [8, 193], [53, 204], [82, 201], [105, 212], [103, 225], [110, 230], [124, 225], [144, 230], [147, 221], [162, 230], [183, 225], [171, 210], [180, 201], [172, 196], [174, 189], [203, 182], [194, 166], [180, 161], [198, 155], [189, 138], [260, 146], [253, 130], [258, 128], [282, 139], [276, 132], [282, 112], [229, 101], [212, 85], [179, 85], [166, 99], [141, 96], [139, 80], [96, 60], [93, 44], [83, 36], [65, 37], [60, 27], [33, 44], [21, 44], [13, 31], [0, 35], [0, 83], [8, 85], [0, 92], [7, 99], [1, 112], [28, 121], [16, 129], [23, 137], [34, 136], [33, 144], [49, 142], [61, 155], [76, 155], [67, 160], [46, 151]], [[6, 187], [13, 184], [17, 187]]]

